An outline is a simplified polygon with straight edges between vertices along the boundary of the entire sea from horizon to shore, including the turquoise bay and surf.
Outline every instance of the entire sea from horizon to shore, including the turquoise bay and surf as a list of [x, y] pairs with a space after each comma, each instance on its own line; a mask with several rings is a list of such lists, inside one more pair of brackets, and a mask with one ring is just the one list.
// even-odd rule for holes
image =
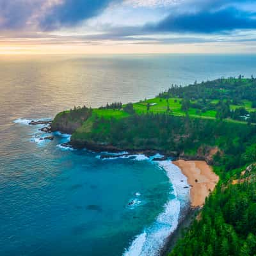
[[157, 255], [188, 205], [179, 168], [67, 150], [68, 134], [41, 141], [29, 120], [255, 67], [249, 55], [1, 56], [0, 255]]

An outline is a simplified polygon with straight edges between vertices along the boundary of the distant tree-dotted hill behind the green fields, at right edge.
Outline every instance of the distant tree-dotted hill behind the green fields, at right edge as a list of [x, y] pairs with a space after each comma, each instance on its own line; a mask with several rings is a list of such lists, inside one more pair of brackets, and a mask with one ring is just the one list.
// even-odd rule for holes
[[[177, 86], [159, 93], [163, 99], [182, 99], [182, 110], [197, 109], [198, 113], [216, 111], [216, 118], [232, 118], [256, 122], [256, 111], [249, 111], [256, 107], [256, 79], [244, 79], [239, 76], [203, 81], [189, 86]], [[247, 107], [247, 109], [246, 109]]]

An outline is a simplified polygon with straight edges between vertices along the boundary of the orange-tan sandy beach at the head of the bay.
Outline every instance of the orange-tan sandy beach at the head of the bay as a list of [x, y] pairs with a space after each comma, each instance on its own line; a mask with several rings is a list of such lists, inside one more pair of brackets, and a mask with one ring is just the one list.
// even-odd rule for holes
[[205, 161], [174, 161], [182, 173], [188, 177], [188, 183], [191, 185], [190, 197], [191, 206], [200, 207], [204, 205], [205, 198], [211, 193], [219, 181], [211, 166]]

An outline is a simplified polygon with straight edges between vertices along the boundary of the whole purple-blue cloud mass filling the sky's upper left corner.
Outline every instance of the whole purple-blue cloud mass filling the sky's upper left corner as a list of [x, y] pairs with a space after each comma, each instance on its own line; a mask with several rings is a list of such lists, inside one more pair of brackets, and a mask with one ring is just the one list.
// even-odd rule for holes
[[54, 30], [98, 15], [118, 0], [0, 0], [0, 29]]

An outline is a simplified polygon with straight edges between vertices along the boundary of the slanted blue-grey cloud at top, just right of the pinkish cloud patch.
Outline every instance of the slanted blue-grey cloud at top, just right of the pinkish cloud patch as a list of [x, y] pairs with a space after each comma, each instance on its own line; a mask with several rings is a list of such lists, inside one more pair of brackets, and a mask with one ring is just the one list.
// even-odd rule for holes
[[45, 17], [40, 20], [44, 30], [58, 29], [62, 26], [74, 26], [78, 22], [98, 15], [115, 0], [63, 0], [56, 4]]

